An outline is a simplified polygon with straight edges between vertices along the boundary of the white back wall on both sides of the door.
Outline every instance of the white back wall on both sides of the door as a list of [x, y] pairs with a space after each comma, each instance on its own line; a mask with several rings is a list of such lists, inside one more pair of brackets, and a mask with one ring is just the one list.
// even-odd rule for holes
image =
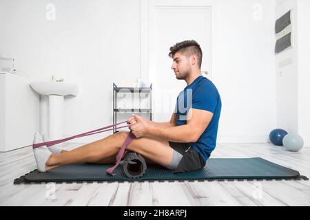
[[[54, 21], [46, 19], [49, 3], [56, 6]], [[81, 88], [79, 97], [65, 100], [64, 136], [112, 124], [112, 83], [134, 82], [141, 69], [139, 4], [0, 2], [1, 54], [14, 56], [34, 81], [54, 74]], [[276, 126], [274, 1], [219, 0], [214, 13], [212, 80], [223, 100], [218, 141], [267, 142]]]

